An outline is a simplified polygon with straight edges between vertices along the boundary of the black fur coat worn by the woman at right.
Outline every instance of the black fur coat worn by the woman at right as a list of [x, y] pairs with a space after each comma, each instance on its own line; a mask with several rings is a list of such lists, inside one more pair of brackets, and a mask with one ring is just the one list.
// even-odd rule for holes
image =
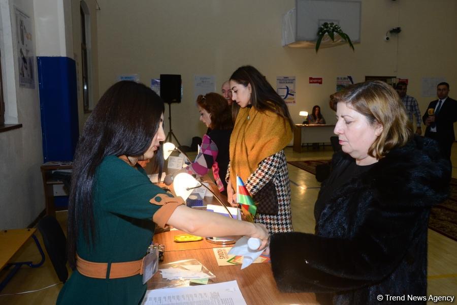
[[[333, 165], [350, 161], [340, 152]], [[338, 304], [378, 303], [379, 294], [426, 295], [430, 207], [447, 197], [450, 176], [449, 161], [430, 139], [416, 136], [391, 150], [334, 190], [315, 235], [271, 237], [278, 288], [322, 292], [320, 302]]]

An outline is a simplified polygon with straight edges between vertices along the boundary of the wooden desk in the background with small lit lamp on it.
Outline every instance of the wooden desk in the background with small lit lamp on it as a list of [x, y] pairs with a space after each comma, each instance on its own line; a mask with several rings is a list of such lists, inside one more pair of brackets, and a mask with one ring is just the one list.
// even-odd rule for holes
[[[302, 129], [303, 132], [302, 140]], [[329, 143], [334, 136], [335, 124], [295, 124], [293, 129], [293, 151], [302, 152], [302, 143]]]

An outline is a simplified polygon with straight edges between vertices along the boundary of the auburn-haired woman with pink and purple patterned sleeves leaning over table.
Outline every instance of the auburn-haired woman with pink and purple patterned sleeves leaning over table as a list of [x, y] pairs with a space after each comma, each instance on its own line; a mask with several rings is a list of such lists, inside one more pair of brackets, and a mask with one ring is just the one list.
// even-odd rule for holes
[[168, 174], [165, 177], [165, 184], [171, 185], [174, 176], [180, 172], [203, 176], [212, 168], [219, 192], [227, 195], [225, 175], [228, 167], [228, 145], [233, 130], [231, 106], [223, 96], [213, 92], [204, 96], [199, 95], [197, 106], [200, 120], [208, 127], [202, 139], [202, 146], [195, 161], [181, 170]]

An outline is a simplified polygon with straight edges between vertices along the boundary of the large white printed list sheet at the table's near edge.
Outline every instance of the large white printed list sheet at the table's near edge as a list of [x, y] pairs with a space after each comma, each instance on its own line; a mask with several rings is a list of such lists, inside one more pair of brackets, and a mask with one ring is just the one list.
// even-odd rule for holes
[[246, 305], [237, 281], [217, 284], [147, 290], [142, 305], [152, 304]]

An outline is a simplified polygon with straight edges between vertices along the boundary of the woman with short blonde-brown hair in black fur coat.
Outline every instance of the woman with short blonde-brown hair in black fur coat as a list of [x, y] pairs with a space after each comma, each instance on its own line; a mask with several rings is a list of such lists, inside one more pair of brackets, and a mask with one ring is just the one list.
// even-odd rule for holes
[[335, 304], [426, 296], [430, 208], [447, 197], [450, 163], [436, 142], [413, 136], [390, 85], [368, 81], [331, 98], [343, 151], [315, 205], [316, 234], [271, 237], [278, 288]]

